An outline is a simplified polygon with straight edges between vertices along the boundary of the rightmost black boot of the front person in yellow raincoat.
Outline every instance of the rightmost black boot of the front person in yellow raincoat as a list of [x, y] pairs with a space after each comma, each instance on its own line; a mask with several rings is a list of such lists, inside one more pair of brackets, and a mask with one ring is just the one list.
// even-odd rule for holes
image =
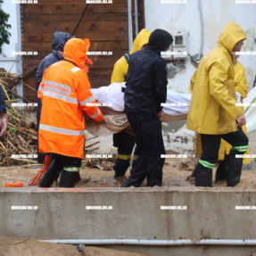
[[227, 186], [235, 186], [240, 182], [243, 158], [235, 158], [235, 150], [227, 155]]

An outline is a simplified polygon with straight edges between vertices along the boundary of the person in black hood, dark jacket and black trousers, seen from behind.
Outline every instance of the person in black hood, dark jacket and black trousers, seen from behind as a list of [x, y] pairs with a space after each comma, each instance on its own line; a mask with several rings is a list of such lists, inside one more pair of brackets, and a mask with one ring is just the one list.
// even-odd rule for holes
[[140, 186], [147, 177], [146, 186], [161, 186], [165, 154], [161, 134], [161, 103], [166, 102], [167, 70], [161, 58], [173, 42], [170, 34], [155, 29], [141, 51], [131, 55], [125, 90], [125, 112], [135, 133], [139, 158], [122, 185]]

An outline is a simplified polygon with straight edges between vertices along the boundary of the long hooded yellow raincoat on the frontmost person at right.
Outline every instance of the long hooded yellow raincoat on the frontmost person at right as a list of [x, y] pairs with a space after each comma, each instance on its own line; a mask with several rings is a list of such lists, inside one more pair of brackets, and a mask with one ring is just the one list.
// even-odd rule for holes
[[232, 50], [245, 38], [239, 25], [228, 22], [219, 36], [218, 45], [202, 57], [191, 79], [193, 95], [186, 128], [211, 135], [237, 130], [235, 120], [243, 114], [243, 108], [235, 106]]

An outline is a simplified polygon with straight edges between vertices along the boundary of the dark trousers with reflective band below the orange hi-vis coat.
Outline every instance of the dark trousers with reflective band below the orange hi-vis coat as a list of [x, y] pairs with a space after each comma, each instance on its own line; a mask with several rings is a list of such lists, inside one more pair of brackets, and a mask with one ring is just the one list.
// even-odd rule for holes
[[40, 187], [52, 186], [54, 180], [57, 180], [60, 173], [61, 187], [74, 187], [80, 180], [79, 168], [81, 159], [75, 157], [64, 156], [56, 153], [49, 153], [53, 159], [49, 168], [45, 171], [45, 175], [40, 182]]

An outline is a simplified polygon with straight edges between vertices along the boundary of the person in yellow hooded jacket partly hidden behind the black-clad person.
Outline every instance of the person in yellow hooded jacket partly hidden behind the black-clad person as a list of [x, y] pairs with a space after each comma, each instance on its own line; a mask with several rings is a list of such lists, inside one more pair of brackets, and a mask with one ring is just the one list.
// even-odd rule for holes
[[[114, 64], [114, 69], [111, 75], [111, 84], [112, 83], [122, 83], [126, 81], [128, 73], [128, 62], [132, 54], [141, 50], [145, 47], [150, 37], [150, 31], [147, 29], [142, 29], [136, 36], [133, 49], [129, 54], [124, 54], [117, 62]], [[113, 165], [115, 171], [114, 178], [122, 178], [125, 175], [126, 170], [130, 166], [130, 160], [132, 151], [135, 145], [135, 137], [128, 135], [125, 131], [120, 131], [113, 135], [113, 145], [118, 148], [118, 157]], [[133, 166], [136, 163], [138, 158], [137, 150], [133, 156]]]

